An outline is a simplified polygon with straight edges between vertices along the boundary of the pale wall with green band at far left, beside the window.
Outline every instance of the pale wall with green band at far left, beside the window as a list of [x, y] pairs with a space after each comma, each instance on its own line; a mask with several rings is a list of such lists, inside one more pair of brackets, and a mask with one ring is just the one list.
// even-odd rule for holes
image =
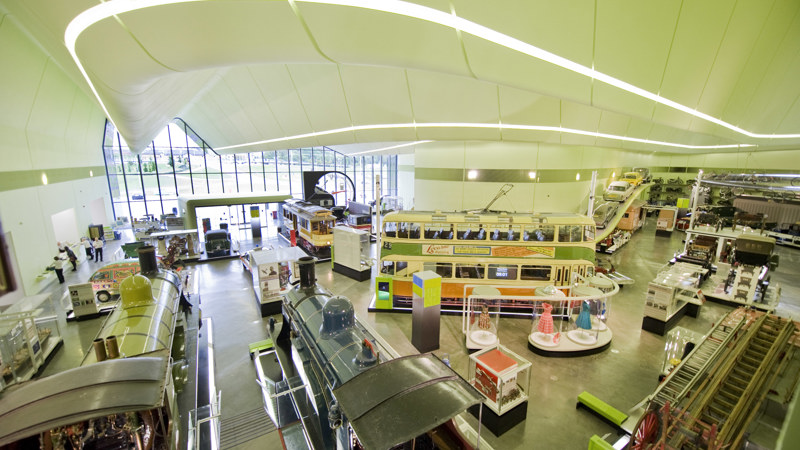
[[[104, 165], [105, 117], [14, 17], [0, 19], [0, 177], [7, 183], [0, 190], [0, 221], [13, 237], [25, 293], [32, 295], [42, 287], [36, 275], [55, 256], [52, 216], [74, 209], [78, 233], [85, 233], [93, 200], [102, 197], [111, 210], [105, 174], [90, 176], [88, 169]], [[41, 173], [48, 174], [47, 185], [30, 182]]]

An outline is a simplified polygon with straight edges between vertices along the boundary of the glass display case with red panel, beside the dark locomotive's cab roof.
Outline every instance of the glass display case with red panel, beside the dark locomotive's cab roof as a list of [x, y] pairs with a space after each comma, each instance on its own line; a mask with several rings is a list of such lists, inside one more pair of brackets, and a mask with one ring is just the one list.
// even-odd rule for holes
[[469, 356], [469, 381], [480, 391], [484, 404], [498, 416], [528, 399], [531, 363], [502, 345]]

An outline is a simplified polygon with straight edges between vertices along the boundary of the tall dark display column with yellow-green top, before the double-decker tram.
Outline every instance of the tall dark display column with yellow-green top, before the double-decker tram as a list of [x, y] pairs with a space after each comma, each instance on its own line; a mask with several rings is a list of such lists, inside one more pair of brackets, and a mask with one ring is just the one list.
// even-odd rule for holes
[[439, 348], [442, 277], [430, 270], [417, 272], [413, 291], [411, 343], [420, 353], [426, 353]]

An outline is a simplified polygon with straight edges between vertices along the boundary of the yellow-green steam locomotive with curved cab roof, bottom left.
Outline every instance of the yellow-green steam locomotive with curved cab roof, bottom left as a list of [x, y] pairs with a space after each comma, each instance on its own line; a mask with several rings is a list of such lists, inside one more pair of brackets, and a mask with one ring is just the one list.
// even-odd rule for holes
[[120, 303], [81, 365], [4, 394], [0, 448], [149, 450], [186, 443], [180, 413], [188, 395], [181, 391], [188, 381], [190, 308], [181, 301], [180, 277], [158, 268], [154, 248], [139, 252], [141, 274], [120, 284]]

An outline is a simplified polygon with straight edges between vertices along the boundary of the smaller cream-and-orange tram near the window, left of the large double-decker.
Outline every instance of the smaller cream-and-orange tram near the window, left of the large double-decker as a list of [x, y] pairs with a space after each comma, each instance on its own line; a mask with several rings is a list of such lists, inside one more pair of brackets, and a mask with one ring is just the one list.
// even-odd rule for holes
[[330, 209], [305, 200], [289, 199], [281, 204], [278, 233], [318, 260], [331, 258], [331, 243], [336, 217]]

